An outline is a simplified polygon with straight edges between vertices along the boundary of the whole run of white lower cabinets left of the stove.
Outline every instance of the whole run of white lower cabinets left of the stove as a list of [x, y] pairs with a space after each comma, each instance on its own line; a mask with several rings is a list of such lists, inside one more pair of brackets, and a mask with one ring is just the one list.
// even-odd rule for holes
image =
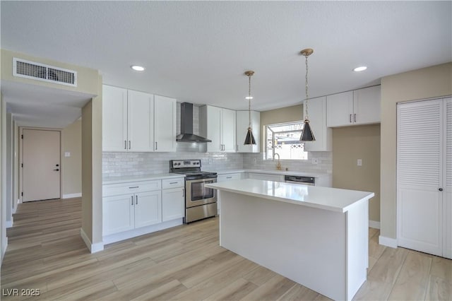
[[177, 177], [103, 185], [104, 243], [182, 225], [184, 184]]

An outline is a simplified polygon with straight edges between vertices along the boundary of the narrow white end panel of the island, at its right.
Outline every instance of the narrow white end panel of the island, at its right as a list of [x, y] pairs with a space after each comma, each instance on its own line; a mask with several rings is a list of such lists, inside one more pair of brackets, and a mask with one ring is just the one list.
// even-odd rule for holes
[[347, 217], [347, 300], [351, 300], [367, 280], [369, 267], [369, 201], [346, 212]]

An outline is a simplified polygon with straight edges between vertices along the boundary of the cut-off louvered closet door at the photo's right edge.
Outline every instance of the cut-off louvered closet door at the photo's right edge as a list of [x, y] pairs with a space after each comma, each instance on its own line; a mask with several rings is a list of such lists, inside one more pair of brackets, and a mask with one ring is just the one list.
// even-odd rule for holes
[[443, 191], [444, 257], [452, 259], [452, 98], [444, 100], [446, 106], [446, 183]]

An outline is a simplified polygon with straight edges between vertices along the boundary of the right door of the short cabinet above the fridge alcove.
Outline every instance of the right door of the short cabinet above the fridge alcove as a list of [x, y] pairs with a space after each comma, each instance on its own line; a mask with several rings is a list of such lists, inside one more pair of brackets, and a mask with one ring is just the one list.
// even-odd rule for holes
[[355, 124], [380, 122], [381, 89], [379, 85], [353, 91], [353, 120]]

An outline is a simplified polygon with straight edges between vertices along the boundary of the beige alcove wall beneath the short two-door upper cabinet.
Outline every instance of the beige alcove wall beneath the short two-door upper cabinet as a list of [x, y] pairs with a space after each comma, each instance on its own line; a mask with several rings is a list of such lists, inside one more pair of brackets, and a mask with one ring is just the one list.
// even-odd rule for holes
[[333, 187], [374, 192], [369, 220], [380, 221], [380, 124], [333, 129]]

